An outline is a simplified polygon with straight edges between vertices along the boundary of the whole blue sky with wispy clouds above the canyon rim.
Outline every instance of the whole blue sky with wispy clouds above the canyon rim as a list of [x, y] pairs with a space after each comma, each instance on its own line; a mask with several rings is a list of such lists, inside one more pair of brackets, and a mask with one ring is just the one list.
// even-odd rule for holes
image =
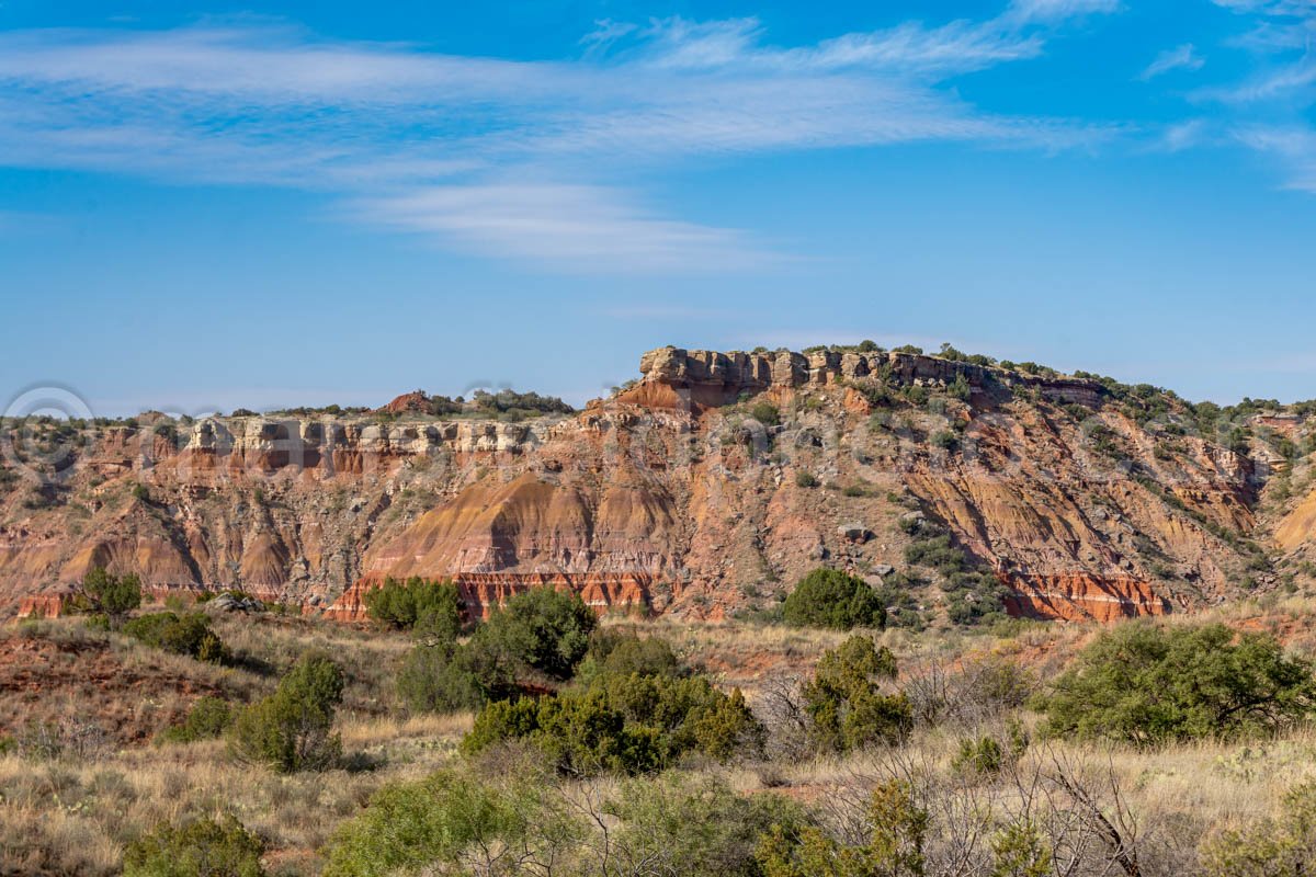
[[[478, 8], [476, 8], [478, 7]], [[0, 0], [0, 394], [873, 338], [1316, 397], [1316, 0]]]

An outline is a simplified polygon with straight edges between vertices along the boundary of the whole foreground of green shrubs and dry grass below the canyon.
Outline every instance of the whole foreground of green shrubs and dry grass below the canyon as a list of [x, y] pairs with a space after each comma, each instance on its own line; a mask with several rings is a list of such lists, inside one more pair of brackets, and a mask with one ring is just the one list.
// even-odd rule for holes
[[[599, 623], [549, 590], [476, 621], [443, 582], [390, 588], [365, 628], [207, 615], [222, 664], [130, 635], [150, 609], [121, 630], [96, 615], [5, 628], [3, 653], [51, 661], [39, 698], [7, 694], [7, 873], [1309, 868], [1302, 600], [933, 635]], [[159, 703], [147, 736], [116, 736], [108, 701], [76, 686], [75, 667], [107, 656], [125, 688], [103, 698], [126, 699], [134, 677]], [[445, 677], [471, 698], [411, 697]]]

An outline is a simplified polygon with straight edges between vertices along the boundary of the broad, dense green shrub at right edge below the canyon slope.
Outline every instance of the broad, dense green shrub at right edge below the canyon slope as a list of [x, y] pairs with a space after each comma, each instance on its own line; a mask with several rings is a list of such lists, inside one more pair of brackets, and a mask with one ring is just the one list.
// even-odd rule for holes
[[1041, 703], [1051, 734], [1138, 746], [1273, 734], [1313, 706], [1309, 664], [1273, 636], [1145, 622], [1098, 636]]

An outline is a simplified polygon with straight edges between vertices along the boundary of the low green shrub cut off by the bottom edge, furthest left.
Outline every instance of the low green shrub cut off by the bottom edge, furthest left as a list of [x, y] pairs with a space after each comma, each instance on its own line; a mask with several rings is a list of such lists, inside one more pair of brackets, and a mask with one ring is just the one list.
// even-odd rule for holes
[[262, 877], [261, 839], [232, 815], [157, 826], [128, 844], [124, 877]]

